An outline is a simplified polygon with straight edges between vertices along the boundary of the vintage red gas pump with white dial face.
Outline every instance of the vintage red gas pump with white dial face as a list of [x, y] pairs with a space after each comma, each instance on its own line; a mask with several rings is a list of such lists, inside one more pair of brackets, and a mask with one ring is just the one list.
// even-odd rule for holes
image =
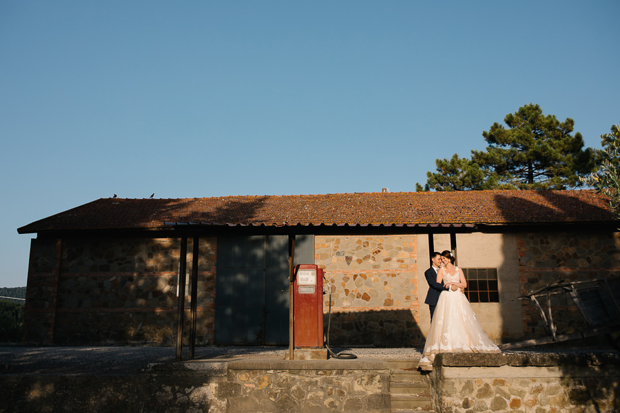
[[293, 357], [327, 359], [323, 345], [323, 270], [315, 264], [299, 264], [294, 277]]

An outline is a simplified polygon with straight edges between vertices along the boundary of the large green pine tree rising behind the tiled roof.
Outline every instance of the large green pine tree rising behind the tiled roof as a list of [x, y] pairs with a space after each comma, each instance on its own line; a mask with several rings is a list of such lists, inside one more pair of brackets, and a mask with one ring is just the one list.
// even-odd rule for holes
[[580, 180], [597, 171], [598, 149], [583, 149], [579, 132], [572, 134], [575, 121], [560, 122], [544, 115], [530, 103], [494, 123], [482, 136], [485, 151], [471, 151], [471, 159], [457, 153], [437, 159], [437, 172], [426, 173], [424, 187], [416, 191], [462, 191], [467, 189], [567, 189], [581, 187]]

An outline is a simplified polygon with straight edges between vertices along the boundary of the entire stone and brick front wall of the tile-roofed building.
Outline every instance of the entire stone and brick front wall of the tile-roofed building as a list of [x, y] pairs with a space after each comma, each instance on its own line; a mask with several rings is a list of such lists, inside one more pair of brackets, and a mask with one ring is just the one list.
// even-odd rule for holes
[[[444, 238], [449, 245], [447, 234], [435, 236], [437, 248], [444, 247]], [[192, 242], [190, 238], [187, 273], [192, 271]], [[330, 317], [329, 294], [324, 296], [324, 324], [327, 332], [329, 323], [331, 345], [424, 345], [420, 326], [424, 322], [426, 331], [430, 324], [428, 306], [423, 304], [425, 285], [420, 296], [422, 273], [428, 268], [425, 243], [426, 235], [315, 237], [315, 262], [324, 269], [331, 293]], [[611, 232], [459, 234], [457, 244], [462, 266], [499, 268], [501, 302], [473, 304], [488, 333], [498, 340], [549, 334], [532, 304], [513, 301], [519, 293], [558, 278], [592, 279], [620, 271], [618, 234]], [[203, 345], [214, 342], [216, 239], [200, 238], [199, 251], [196, 343]], [[517, 255], [518, 262], [513, 259]], [[24, 341], [172, 345], [179, 257], [176, 238], [32, 240]], [[584, 326], [579, 310], [566, 298], [553, 301], [558, 334]], [[189, 299], [186, 314], [189, 319]]]

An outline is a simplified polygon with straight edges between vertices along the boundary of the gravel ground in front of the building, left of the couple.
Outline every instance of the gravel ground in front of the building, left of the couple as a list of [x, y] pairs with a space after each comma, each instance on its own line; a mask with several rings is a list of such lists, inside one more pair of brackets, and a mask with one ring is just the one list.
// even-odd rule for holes
[[[333, 348], [360, 359], [408, 359], [420, 357], [415, 348]], [[187, 348], [183, 352], [186, 361]], [[285, 359], [288, 347], [197, 347], [195, 359]], [[173, 347], [0, 347], [0, 373], [8, 374], [118, 374], [139, 372], [149, 363], [174, 362]]]

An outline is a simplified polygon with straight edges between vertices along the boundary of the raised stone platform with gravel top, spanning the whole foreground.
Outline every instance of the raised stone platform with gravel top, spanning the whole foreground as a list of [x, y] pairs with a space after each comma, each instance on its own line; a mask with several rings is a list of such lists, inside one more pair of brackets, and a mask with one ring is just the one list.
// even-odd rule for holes
[[[425, 391], [402, 384], [412, 349], [353, 349], [354, 360], [196, 350], [177, 362], [172, 348], [0, 348], [0, 412], [388, 413]], [[416, 408], [435, 412], [620, 411], [617, 352], [440, 354], [423, 379], [429, 401]]]

